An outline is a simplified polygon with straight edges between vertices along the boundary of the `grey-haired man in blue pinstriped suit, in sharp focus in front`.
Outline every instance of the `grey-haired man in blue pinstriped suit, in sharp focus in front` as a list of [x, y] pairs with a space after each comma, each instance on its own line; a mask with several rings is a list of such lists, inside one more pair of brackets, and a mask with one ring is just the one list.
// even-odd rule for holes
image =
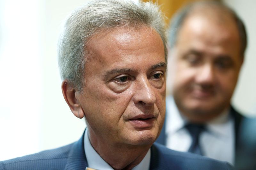
[[91, 1], [59, 43], [63, 96], [87, 128], [73, 144], [0, 162], [0, 169], [229, 169], [153, 144], [164, 123], [166, 37], [157, 5]]

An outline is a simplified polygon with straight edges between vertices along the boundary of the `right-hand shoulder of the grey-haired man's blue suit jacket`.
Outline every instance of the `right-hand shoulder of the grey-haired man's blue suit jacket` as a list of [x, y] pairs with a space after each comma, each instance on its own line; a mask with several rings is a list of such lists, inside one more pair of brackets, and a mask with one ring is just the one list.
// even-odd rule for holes
[[[168, 165], [171, 169], [233, 169], [227, 162], [222, 162], [193, 153], [173, 151], [166, 148], [164, 145], [157, 143], [154, 143], [152, 150], [152, 152], [155, 152], [154, 155], [156, 154], [158, 159], [164, 160], [164, 164]], [[159, 162], [161, 162], [161, 160], [159, 160]]]

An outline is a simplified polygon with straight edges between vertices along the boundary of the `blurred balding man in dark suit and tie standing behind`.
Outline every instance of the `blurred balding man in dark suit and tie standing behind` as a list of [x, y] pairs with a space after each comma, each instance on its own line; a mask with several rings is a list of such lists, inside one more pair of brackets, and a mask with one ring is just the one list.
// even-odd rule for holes
[[168, 41], [172, 96], [157, 141], [254, 169], [256, 121], [230, 105], [247, 44], [241, 19], [221, 3], [189, 4], [172, 19]]

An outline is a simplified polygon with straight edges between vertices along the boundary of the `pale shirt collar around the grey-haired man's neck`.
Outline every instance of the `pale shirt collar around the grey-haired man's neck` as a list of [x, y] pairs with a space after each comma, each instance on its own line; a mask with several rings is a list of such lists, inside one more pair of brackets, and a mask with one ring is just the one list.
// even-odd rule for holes
[[[85, 129], [84, 134], [84, 152], [87, 159], [87, 166], [97, 170], [113, 170], [108, 163], [100, 157], [100, 155], [94, 150], [88, 137], [88, 129]], [[133, 167], [132, 170], [145, 169], [148, 170], [150, 165], [150, 149], [148, 150], [144, 159], [137, 166]]]

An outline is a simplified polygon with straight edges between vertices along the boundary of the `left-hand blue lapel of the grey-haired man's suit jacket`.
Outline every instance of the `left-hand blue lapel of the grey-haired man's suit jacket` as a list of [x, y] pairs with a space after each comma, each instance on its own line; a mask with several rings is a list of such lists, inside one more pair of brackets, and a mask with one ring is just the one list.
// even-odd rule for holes
[[84, 153], [84, 134], [73, 144], [69, 155], [65, 170], [85, 169], [87, 166], [87, 159]]

